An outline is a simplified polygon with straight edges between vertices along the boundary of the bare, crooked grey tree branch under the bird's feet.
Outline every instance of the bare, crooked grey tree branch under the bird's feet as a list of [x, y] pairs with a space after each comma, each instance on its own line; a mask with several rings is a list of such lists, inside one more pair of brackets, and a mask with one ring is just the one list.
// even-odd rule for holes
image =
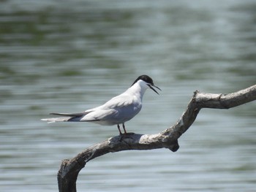
[[121, 150], [151, 150], [167, 148], [175, 152], [178, 150], [178, 138], [194, 123], [197, 114], [202, 108], [229, 109], [256, 100], [256, 85], [236, 93], [212, 94], [195, 91], [189, 101], [187, 109], [175, 125], [159, 134], [123, 134], [110, 137], [86, 148], [72, 159], [65, 159], [58, 172], [60, 192], [75, 192], [78, 173], [88, 161], [106, 153]]

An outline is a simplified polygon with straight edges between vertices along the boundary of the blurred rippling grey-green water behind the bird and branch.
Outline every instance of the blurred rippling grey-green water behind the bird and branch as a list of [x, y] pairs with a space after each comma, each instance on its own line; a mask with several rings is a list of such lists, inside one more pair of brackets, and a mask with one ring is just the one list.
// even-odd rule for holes
[[[58, 191], [61, 160], [118, 134], [116, 126], [40, 121], [148, 90], [127, 131], [172, 126], [193, 91], [256, 83], [256, 1], [0, 1], [0, 191]], [[201, 110], [180, 149], [90, 161], [78, 191], [255, 191], [256, 104]]]

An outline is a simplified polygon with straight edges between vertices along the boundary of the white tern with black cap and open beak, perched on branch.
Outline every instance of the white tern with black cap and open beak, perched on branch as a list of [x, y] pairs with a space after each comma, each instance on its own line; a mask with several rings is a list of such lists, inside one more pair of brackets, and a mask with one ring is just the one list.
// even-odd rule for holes
[[[154, 85], [151, 77], [144, 74], [138, 77], [135, 82], [132, 83], [131, 87], [127, 89], [127, 91], [113, 97], [99, 107], [78, 113], [50, 113], [50, 115], [61, 115], [65, 117], [46, 118], [42, 120], [47, 120], [49, 123], [71, 121], [92, 122], [107, 126], [117, 125], [120, 134], [122, 133], [120, 131], [119, 124], [122, 124], [124, 134], [127, 134], [124, 123], [134, 118], [135, 115], [140, 112], [143, 95], [148, 88], [151, 88], [157, 93], [153, 87], [158, 88], [156, 85]], [[160, 88], [158, 89], [161, 90]]]

